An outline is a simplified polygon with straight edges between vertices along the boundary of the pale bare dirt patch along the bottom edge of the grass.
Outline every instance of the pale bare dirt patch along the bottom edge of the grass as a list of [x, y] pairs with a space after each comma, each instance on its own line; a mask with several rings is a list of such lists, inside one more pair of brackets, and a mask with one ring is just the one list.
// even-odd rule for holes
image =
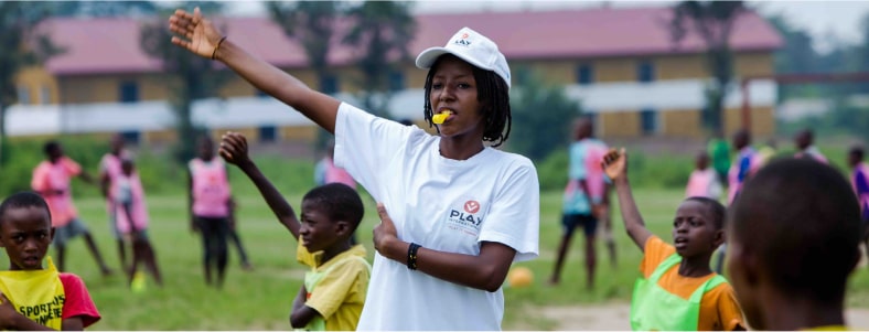
[[[555, 323], [552, 330], [558, 331], [630, 331], [631, 306], [612, 303], [601, 306], [540, 307], [534, 309]], [[869, 329], [869, 309], [849, 309], [846, 312], [848, 325], [857, 329]]]

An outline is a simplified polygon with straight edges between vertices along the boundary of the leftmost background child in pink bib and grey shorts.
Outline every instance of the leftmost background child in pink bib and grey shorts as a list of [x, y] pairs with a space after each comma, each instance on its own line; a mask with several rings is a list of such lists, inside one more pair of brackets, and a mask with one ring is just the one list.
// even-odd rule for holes
[[33, 170], [31, 188], [40, 193], [49, 204], [52, 216], [52, 226], [56, 228], [54, 234], [54, 245], [57, 249], [57, 267], [66, 270], [66, 243], [78, 235], [85, 237], [87, 248], [97, 260], [104, 276], [110, 275], [111, 270], [103, 260], [90, 231], [85, 223], [78, 218], [78, 211], [73, 205], [71, 180], [79, 176], [87, 183], [93, 183], [93, 179], [82, 171], [77, 162], [67, 158], [63, 153], [61, 144], [56, 141], [49, 141], [44, 147], [47, 160], [42, 161]]

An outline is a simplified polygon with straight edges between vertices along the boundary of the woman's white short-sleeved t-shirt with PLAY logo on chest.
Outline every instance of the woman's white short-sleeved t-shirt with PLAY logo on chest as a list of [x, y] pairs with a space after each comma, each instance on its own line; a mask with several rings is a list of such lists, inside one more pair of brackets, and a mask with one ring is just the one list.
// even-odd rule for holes
[[[482, 242], [538, 255], [537, 171], [525, 157], [485, 148], [468, 160], [440, 156], [440, 137], [342, 104], [335, 164], [395, 222], [398, 238], [425, 248], [479, 255]], [[415, 271], [375, 254], [358, 330], [501, 330], [504, 293]]]

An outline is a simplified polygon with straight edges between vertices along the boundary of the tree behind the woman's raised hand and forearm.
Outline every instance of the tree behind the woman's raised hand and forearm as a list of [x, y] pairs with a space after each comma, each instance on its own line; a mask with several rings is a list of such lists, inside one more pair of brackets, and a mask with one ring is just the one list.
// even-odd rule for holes
[[[223, 3], [203, 1], [186, 3], [200, 7], [203, 12], [218, 12]], [[229, 75], [226, 71], [217, 71], [216, 63], [200, 56], [190, 56], [186, 50], [172, 45], [172, 34], [165, 29], [169, 13], [159, 15], [153, 22], [142, 25], [140, 42], [142, 50], [151, 57], [159, 58], [168, 75], [170, 101], [175, 113], [178, 142], [175, 158], [186, 162], [195, 157], [196, 136], [201, 129], [195, 128], [192, 119], [193, 101], [212, 97], [223, 86]]]

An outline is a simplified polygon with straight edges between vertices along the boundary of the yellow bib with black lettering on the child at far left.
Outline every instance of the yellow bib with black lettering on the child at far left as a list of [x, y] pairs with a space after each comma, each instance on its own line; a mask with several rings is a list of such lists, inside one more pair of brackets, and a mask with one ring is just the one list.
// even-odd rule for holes
[[60, 272], [51, 257], [47, 268], [31, 271], [0, 271], [0, 291], [12, 307], [33, 321], [62, 330], [63, 304], [66, 297]]

